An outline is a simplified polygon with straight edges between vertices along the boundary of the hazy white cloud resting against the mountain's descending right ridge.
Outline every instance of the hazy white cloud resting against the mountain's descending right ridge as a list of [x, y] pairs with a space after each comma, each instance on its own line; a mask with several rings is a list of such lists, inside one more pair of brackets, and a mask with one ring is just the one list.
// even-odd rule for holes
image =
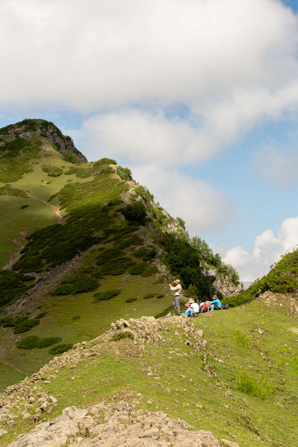
[[185, 220], [191, 235], [221, 227], [231, 215], [230, 205], [220, 191], [178, 169], [146, 164], [133, 166], [132, 171], [134, 179], [146, 185], [161, 206], [173, 217]]

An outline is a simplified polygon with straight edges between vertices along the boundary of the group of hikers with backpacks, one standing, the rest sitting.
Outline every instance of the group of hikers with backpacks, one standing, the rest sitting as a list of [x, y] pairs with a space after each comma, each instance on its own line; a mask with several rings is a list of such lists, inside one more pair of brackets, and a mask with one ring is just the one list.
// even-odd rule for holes
[[[180, 311], [180, 296], [181, 296], [181, 284], [180, 279], [176, 279], [174, 281], [176, 286], [172, 286], [172, 284], [169, 284], [172, 291], [175, 291], [174, 295], [174, 301], [173, 301], [173, 308], [176, 309], [178, 312]], [[212, 312], [214, 310], [222, 310], [222, 309], [228, 309], [227, 304], [221, 304], [220, 300], [218, 299], [217, 295], [214, 295], [212, 297], [212, 301], [201, 301], [200, 304], [197, 302], [197, 299], [190, 298], [188, 303], [185, 303], [186, 309], [185, 311], [181, 312], [181, 315], [188, 315], [188, 316], [197, 316], [200, 313], [204, 312]]]

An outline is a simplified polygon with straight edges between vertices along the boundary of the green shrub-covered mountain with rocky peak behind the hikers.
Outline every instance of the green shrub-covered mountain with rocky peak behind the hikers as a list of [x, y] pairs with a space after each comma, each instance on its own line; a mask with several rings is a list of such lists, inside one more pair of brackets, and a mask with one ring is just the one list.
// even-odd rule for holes
[[159, 207], [130, 169], [109, 158], [85, 162], [43, 120], [1, 129], [0, 139], [2, 389], [115, 318], [163, 313], [176, 276], [186, 296], [210, 299], [205, 241], [190, 245], [182, 219]]

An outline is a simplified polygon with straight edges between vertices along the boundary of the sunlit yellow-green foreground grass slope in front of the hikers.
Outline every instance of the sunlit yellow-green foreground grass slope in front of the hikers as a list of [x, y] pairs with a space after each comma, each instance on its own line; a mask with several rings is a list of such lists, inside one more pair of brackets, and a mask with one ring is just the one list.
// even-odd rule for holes
[[[62, 392], [51, 416], [44, 413], [46, 419], [59, 415], [66, 406], [94, 405], [102, 398], [111, 399], [118, 392], [131, 389], [143, 395], [139, 407], [163, 410], [170, 417], [180, 417], [197, 429], [211, 430], [217, 438], [231, 439], [240, 446], [296, 445], [298, 421], [293, 415], [298, 410], [297, 333], [290, 328], [298, 331], [298, 325], [290, 316], [289, 302], [283, 300], [282, 304], [281, 307], [254, 301], [192, 320], [198, 329], [204, 330], [207, 360], [217, 377], [203, 369], [203, 360], [193, 347], [182, 343], [186, 340], [183, 330], [169, 325], [163, 333], [165, 342], [146, 345], [143, 354], [126, 340], [102, 345], [100, 357], [58, 370], [53, 366], [55, 377], [49, 384], [35, 382], [32, 388], [37, 386], [37, 390], [33, 393], [46, 391], [57, 396]], [[247, 337], [250, 347], [239, 346], [234, 328]], [[264, 333], [259, 334], [255, 330], [258, 328]], [[183, 355], [169, 354], [175, 350]], [[224, 363], [218, 363], [210, 354]], [[274, 387], [274, 393], [260, 399], [237, 389], [235, 375], [241, 365], [243, 371], [262, 376], [264, 382]], [[147, 375], [148, 369], [153, 376]], [[160, 380], [155, 380], [157, 376]], [[22, 406], [18, 407], [12, 412], [21, 412]], [[34, 414], [34, 410], [35, 407], [30, 413]], [[0, 445], [15, 438], [13, 433], [33, 428], [32, 422], [21, 417], [15, 422], [17, 427], [8, 430]]]

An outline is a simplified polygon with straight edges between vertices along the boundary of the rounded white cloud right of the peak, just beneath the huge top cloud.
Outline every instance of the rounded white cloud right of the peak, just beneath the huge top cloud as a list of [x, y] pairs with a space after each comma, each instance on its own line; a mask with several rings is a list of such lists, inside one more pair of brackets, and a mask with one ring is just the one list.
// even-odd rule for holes
[[167, 118], [160, 108], [126, 108], [97, 114], [82, 127], [89, 158], [98, 154], [124, 157], [131, 162], [188, 165], [212, 154], [201, 144], [201, 131], [177, 116]]

